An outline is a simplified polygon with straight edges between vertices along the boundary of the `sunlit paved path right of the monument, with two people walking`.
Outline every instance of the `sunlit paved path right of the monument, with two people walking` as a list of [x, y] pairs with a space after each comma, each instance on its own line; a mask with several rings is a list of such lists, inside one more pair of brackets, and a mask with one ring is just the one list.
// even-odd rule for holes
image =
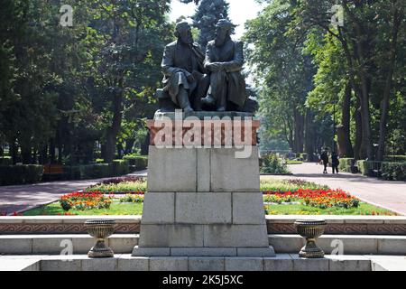
[[317, 163], [302, 163], [289, 166], [292, 176], [272, 176], [280, 179], [301, 179], [328, 185], [331, 189], [342, 189], [351, 195], [378, 207], [406, 215], [406, 182], [389, 182], [361, 174], [340, 172], [323, 174], [323, 166]]

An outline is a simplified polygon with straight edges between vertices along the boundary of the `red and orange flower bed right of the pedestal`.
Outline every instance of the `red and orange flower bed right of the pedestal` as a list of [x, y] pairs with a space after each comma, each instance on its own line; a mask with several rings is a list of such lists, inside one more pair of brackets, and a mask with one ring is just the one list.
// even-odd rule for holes
[[359, 200], [341, 190], [303, 190], [288, 192], [266, 192], [265, 202], [274, 204], [299, 202], [301, 205], [319, 209], [358, 208]]

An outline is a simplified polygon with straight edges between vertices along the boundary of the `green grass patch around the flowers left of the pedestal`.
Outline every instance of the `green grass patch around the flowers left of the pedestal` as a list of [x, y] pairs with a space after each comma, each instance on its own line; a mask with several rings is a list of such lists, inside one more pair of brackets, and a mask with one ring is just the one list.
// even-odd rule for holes
[[[50, 205], [43, 206], [37, 209], [28, 210], [23, 213], [23, 216], [60, 216], [64, 215], [65, 211], [60, 207], [60, 202], [53, 202]], [[142, 203], [120, 203], [115, 199], [110, 206], [110, 209], [100, 210], [69, 210], [70, 215], [78, 216], [127, 216], [127, 215], [142, 215]]]

